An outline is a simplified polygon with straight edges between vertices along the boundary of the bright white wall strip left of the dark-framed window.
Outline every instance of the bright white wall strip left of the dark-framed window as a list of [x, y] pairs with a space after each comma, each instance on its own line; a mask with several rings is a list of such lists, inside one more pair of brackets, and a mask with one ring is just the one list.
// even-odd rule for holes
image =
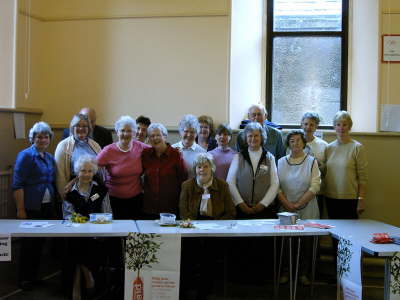
[[264, 102], [263, 15], [263, 0], [232, 0], [229, 120], [233, 128], [238, 128], [251, 104]]

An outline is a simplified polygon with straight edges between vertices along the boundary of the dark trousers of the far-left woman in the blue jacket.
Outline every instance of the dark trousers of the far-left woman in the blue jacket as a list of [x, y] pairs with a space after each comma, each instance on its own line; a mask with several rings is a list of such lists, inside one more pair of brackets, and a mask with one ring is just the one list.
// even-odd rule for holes
[[[53, 218], [53, 205], [44, 203], [40, 210], [26, 210], [28, 219], [31, 220], [49, 220]], [[19, 255], [18, 280], [34, 281], [37, 280], [40, 258], [42, 256], [43, 244], [45, 238], [22, 238], [21, 250]]]

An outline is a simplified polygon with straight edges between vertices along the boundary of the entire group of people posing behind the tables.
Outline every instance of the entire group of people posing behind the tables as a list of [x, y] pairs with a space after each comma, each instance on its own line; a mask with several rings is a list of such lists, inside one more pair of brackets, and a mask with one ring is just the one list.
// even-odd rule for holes
[[[173, 145], [161, 123], [122, 116], [113, 143], [96, 125], [94, 110], [85, 108], [73, 116], [54, 157], [46, 152], [53, 132], [38, 122], [29, 132], [32, 146], [15, 164], [17, 217], [48, 219], [61, 199], [64, 218], [112, 212], [114, 219], [156, 219], [169, 212], [182, 219], [249, 219], [276, 218], [283, 210], [318, 219], [323, 194], [330, 218], [358, 218], [365, 209], [367, 161], [364, 147], [350, 137], [348, 112], [335, 115], [337, 139], [330, 144], [315, 136], [316, 113], [305, 113], [301, 130], [285, 141], [268, 125], [263, 106], [252, 105], [248, 118], [235, 150], [228, 125], [214, 130], [210, 117], [193, 115], [179, 122], [180, 141]], [[40, 243], [23, 241], [21, 287], [36, 280], [32, 263], [39, 262]]]

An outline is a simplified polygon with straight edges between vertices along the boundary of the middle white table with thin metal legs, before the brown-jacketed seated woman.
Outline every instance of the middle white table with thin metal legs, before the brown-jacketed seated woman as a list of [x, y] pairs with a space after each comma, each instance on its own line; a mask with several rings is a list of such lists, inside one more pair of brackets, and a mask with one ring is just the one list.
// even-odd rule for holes
[[[279, 220], [219, 220], [219, 221], [193, 221], [195, 228], [179, 228], [179, 227], [162, 227], [155, 221], [136, 221], [140, 233], [156, 233], [156, 234], [181, 234], [182, 237], [274, 237], [274, 245], [276, 245], [276, 237], [288, 237], [289, 239], [289, 279], [290, 279], [290, 299], [296, 299], [297, 273], [300, 254], [300, 237], [313, 236], [313, 260], [312, 260], [312, 278], [314, 283], [315, 257], [317, 248], [317, 236], [329, 235], [326, 229], [306, 227], [304, 230], [280, 230], [274, 226], [279, 224]], [[210, 226], [216, 224], [217, 226]], [[209, 229], [204, 226], [209, 225]], [[295, 264], [294, 283], [292, 279], [292, 238], [297, 237], [297, 259]], [[283, 244], [282, 246], [283, 247]], [[281, 249], [282, 250], [282, 249]], [[281, 251], [282, 253], [282, 251]], [[274, 247], [274, 261], [276, 262], [276, 246]], [[282, 258], [282, 256], [281, 256]], [[281, 262], [280, 258], [280, 262]], [[275, 296], [279, 287], [280, 264], [278, 272], [274, 264], [274, 286]], [[312, 289], [311, 289], [312, 291]]]

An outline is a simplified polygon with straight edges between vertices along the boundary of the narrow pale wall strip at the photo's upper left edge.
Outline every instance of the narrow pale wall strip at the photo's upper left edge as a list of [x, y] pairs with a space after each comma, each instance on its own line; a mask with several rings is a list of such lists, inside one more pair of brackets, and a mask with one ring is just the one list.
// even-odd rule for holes
[[0, 1], [0, 107], [14, 107], [16, 5]]

